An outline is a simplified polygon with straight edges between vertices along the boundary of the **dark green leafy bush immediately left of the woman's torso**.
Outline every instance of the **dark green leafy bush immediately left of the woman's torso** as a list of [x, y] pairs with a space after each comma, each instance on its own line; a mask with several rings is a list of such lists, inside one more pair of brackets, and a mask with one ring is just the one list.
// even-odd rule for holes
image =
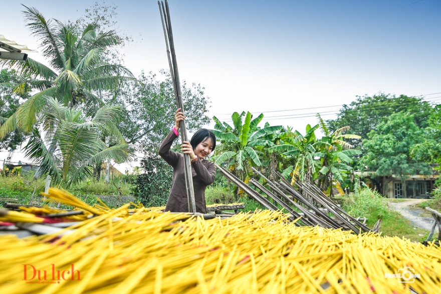
[[141, 168], [144, 174], [136, 177], [132, 195], [147, 207], [165, 205], [173, 180], [173, 169], [158, 156], [142, 159]]

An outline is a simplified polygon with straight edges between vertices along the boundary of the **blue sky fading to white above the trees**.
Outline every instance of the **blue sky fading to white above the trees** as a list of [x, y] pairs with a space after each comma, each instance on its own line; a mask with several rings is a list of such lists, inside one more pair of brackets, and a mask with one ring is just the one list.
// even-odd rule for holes
[[[0, 3], [0, 34], [36, 49], [38, 40], [24, 25], [20, 3]], [[62, 22], [92, 6], [90, 1], [21, 3]], [[135, 39], [123, 49], [125, 65], [136, 76], [167, 68], [157, 1], [105, 3], [118, 6], [118, 31]], [[179, 75], [205, 87], [209, 115], [221, 120], [234, 111], [264, 112], [271, 125], [304, 132], [307, 123], [317, 123], [314, 113], [331, 119], [340, 108], [314, 107], [349, 104], [356, 95], [378, 92], [441, 92], [438, 0], [170, 0], [169, 7]], [[441, 94], [425, 97], [441, 101]]]

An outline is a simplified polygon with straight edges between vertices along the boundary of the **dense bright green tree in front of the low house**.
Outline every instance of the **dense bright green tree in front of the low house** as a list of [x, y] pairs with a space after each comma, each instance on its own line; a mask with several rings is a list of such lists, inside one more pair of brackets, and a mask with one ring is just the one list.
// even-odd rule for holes
[[421, 141], [421, 134], [414, 115], [399, 112], [384, 118], [363, 140], [366, 153], [360, 165], [378, 176], [431, 174], [428, 163], [410, 157], [410, 149]]

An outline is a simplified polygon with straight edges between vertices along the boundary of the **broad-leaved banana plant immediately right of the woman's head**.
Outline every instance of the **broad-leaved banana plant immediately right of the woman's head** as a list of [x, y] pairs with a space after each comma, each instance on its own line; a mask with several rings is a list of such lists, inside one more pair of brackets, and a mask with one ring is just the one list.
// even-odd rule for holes
[[[242, 121], [243, 116], [245, 120]], [[220, 122], [215, 116], [214, 133], [219, 138], [219, 148], [215, 150], [213, 160], [217, 164], [228, 161], [230, 170], [241, 180], [245, 180], [249, 173], [249, 167], [261, 166], [259, 156], [264, 154], [258, 146], [271, 147], [273, 143], [265, 136], [281, 129], [281, 126], [265, 125], [260, 128], [258, 124], [264, 115], [261, 113], [253, 119], [251, 112], [243, 111], [241, 114], [234, 112], [232, 115], [234, 126], [226, 122]]]

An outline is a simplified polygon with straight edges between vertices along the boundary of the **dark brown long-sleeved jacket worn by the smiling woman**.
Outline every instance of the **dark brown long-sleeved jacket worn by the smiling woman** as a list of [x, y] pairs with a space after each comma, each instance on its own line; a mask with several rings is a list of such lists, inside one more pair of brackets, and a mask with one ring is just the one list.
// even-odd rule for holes
[[[159, 155], [173, 167], [173, 183], [168, 196], [165, 211], [188, 212], [187, 192], [185, 189], [184, 155], [170, 150], [173, 140], [177, 138], [174, 130], [171, 130], [159, 147]], [[206, 213], [205, 188], [214, 182], [216, 167], [214, 163], [202, 160], [191, 163], [193, 176], [194, 198], [196, 200], [196, 212]]]

